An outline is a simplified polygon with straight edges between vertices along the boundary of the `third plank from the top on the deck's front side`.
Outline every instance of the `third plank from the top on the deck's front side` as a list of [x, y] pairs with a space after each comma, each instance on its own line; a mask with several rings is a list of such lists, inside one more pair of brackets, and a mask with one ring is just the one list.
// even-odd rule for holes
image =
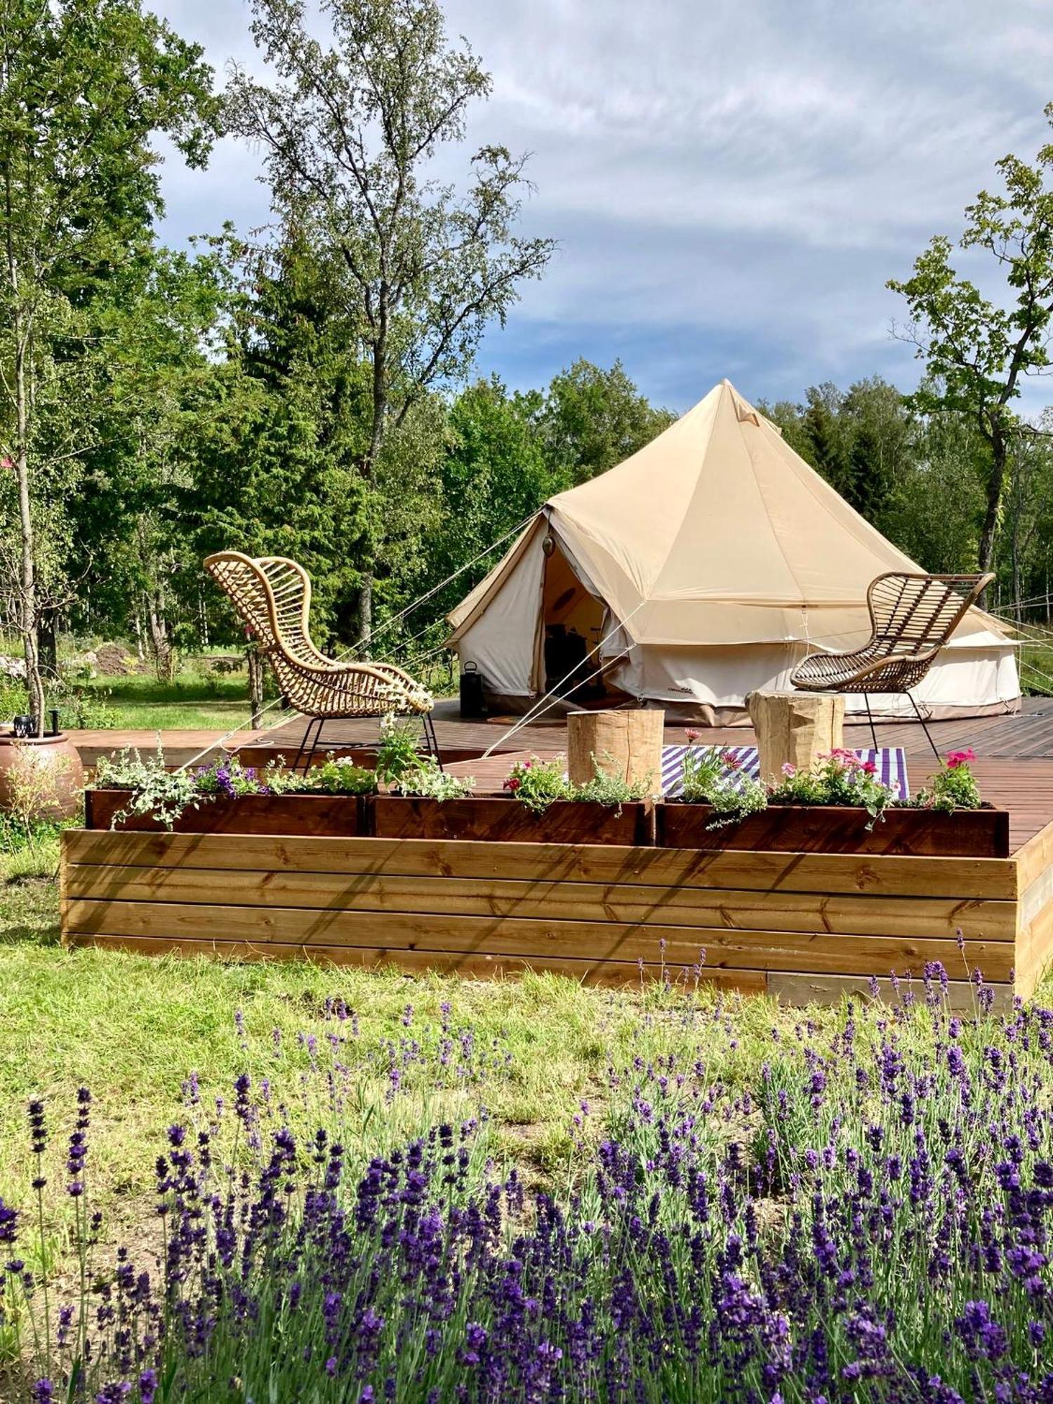
[[[828, 932], [709, 931], [614, 921], [536, 921], [501, 917], [445, 917], [414, 913], [323, 911], [302, 907], [205, 907], [152, 901], [72, 900], [67, 929], [142, 938], [271, 941], [292, 945], [348, 945], [590, 960], [661, 960], [692, 966], [705, 946], [705, 966], [744, 970], [921, 974], [939, 960], [962, 960], [953, 941], [847, 936]], [[1011, 942], [974, 942], [970, 965], [991, 980], [1008, 980], [1016, 951]]]

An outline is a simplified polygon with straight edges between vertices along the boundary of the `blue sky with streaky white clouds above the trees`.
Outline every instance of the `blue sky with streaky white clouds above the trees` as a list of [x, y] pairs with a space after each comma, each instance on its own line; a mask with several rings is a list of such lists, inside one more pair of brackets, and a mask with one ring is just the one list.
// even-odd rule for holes
[[[223, 74], [257, 66], [244, 0], [154, 0]], [[557, 240], [541, 282], [480, 350], [482, 373], [543, 386], [577, 357], [621, 358], [682, 411], [727, 376], [800, 400], [880, 373], [918, 378], [896, 340], [935, 233], [997, 185], [1007, 152], [1053, 139], [1049, 0], [446, 0], [493, 74], [484, 142], [529, 152], [521, 229]], [[258, 156], [225, 140], [206, 171], [166, 161], [161, 236], [267, 222]], [[986, 267], [956, 267], [984, 286]], [[986, 288], [995, 293], [997, 284]], [[1029, 383], [1025, 413], [1053, 402]]]

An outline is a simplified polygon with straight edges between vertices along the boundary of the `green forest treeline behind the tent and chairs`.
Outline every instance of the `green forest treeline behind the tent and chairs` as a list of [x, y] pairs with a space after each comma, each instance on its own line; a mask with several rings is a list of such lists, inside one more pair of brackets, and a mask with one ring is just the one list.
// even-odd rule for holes
[[[483, 337], [500, 348], [553, 243], [521, 232], [526, 159], [500, 133], [463, 146], [490, 79], [437, 0], [327, 0], [324, 41], [298, 0], [250, 8], [265, 79], [222, 88], [140, 0], [0, 15], [0, 609], [38, 715], [59, 629], [138, 643], [160, 673], [241, 642], [201, 570], [215, 549], [302, 560], [320, 642], [361, 644], [674, 417], [637, 389], [643, 365], [578, 359], [525, 392], [480, 378]], [[166, 249], [157, 143], [199, 167], [220, 135], [263, 154], [271, 219]], [[966, 211], [995, 298], [945, 239], [892, 285], [918, 390], [872, 378], [764, 406], [924, 567], [990, 563], [997, 601], [1043, 618], [1053, 451], [1014, 402], [1046, 365], [1052, 160], [1007, 157], [1004, 194]], [[437, 647], [494, 559], [378, 653]]]

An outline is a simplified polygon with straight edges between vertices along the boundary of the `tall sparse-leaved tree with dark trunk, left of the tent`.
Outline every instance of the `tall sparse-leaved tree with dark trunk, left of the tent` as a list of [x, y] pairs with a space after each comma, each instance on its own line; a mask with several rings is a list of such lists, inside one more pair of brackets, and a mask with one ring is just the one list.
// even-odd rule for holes
[[[504, 322], [524, 278], [541, 274], [548, 239], [514, 233], [525, 157], [480, 147], [468, 183], [438, 180], [444, 147], [465, 136], [490, 79], [466, 45], [449, 48], [437, 0], [323, 0], [331, 44], [314, 39], [302, 0], [253, 0], [253, 34], [277, 81], [239, 70], [233, 128], [264, 152], [274, 208], [333, 256], [333, 293], [368, 365], [366, 493], [386, 437], [428, 392], [463, 375], [484, 329]], [[368, 511], [359, 549], [359, 636], [385, 511]]]

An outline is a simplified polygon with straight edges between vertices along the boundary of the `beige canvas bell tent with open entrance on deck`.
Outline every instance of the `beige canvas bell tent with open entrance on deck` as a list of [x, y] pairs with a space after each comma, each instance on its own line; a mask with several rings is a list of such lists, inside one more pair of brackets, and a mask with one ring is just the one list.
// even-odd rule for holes
[[[578, 699], [727, 724], [747, 692], [788, 687], [810, 649], [862, 643], [870, 580], [918, 569], [722, 380], [618, 468], [550, 498], [449, 615], [451, 642], [498, 706], [522, 710], [584, 660], [576, 678], [602, 671]], [[936, 716], [1016, 710], [1012, 643], [972, 611], [915, 695]]]

